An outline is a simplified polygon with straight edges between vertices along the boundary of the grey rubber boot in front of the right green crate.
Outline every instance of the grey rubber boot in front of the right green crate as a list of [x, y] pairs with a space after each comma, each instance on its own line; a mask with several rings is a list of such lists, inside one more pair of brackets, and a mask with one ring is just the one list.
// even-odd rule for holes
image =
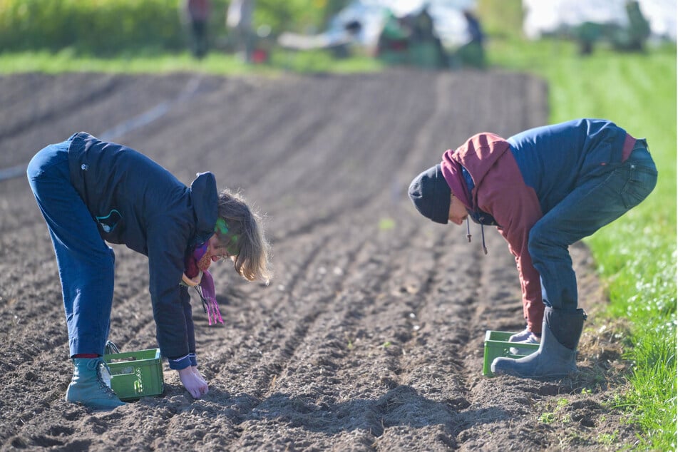
[[495, 358], [490, 365], [495, 375], [528, 379], [563, 378], [577, 371], [577, 344], [584, 328], [583, 309], [563, 311], [546, 307], [539, 349], [519, 359]]

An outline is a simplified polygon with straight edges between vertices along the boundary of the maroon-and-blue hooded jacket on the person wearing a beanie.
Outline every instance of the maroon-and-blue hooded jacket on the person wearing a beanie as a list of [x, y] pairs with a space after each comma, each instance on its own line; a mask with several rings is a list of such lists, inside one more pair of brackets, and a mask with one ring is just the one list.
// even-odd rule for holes
[[443, 154], [443, 176], [455, 195], [466, 200], [469, 216], [487, 217], [492, 222], [486, 224], [497, 225], [515, 256], [531, 331], [540, 332], [544, 304], [528, 251], [530, 229], [578, 183], [626, 160], [633, 143], [635, 138], [609, 120], [577, 119], [508, 139], [478, 133]]

